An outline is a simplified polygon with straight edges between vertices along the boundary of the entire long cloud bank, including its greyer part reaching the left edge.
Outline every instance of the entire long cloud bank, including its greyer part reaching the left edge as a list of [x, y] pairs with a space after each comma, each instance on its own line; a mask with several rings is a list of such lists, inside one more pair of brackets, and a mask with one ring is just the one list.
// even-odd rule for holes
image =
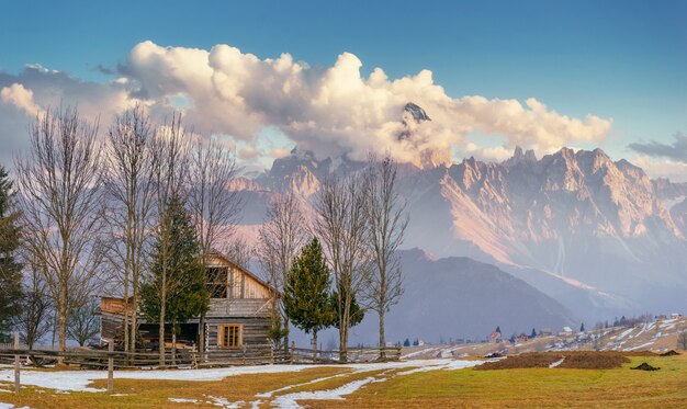
[[[144, 101], [155, 120], [180, 110], [195, 132], [230, 136], [247, 163], [283, 156], [291, 144], [318, 157], [364, 159], [369, 151], [391, 151], [416, 164], [450, 161], [454, 155], [504, 159], [516, 145], [543, 154], [601, 143], [612, 124], [595, 115], [568, 117], [536, 99], [452, 98], [429, 70], [390, 79], [382, 68], [364, 77], [361, 67], [350, 53], [329, 67], [311, 67], [289, 54], [259, 58], [223, 44], [207, 50], [153, 42], [137, 44], [117, 68], [119, 77], [106, 83], [27, 66], [19, 75], [0, 72], [0, 143], [25, 146], [26, 113], [41, 107], [78, 103], [83, 116], [108, 124], [136, 101]], [[408, 102], [431, 121], [415, 123], [406, 113], [404, 122]], [[275, 130], [266, 136], [264, 129]], [[10, 136], [18, 133], [19, 138]], [[489, 141], [475, 135], [489, 135]], [[494, 147], [494, 135], [500, 146]]]

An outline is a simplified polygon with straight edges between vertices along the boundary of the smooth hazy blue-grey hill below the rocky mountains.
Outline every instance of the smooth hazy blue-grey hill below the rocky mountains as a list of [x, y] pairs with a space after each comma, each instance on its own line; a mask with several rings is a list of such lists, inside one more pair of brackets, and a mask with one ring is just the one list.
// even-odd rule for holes
[[[559, 302], [498, 268], [469, 258], [432, 260], [420, 250], [401, 251], [405, 293], [386, 316], [386, 339], [483, 339], [502, 330], [572, 326], [576, 319]], [[353, 328], [356, 339], [374, 343], [378, 317], [370, 313]]]

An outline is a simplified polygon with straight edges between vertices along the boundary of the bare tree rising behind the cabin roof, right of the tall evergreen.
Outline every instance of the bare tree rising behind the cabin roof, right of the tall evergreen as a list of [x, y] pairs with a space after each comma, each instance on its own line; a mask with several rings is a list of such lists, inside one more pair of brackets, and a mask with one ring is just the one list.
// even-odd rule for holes
[[[236, 174], [234, 151], [218, 140], [198, 138], [191, 147], [189, 200], [201, 245], [201, 260], [206, 270], [212, 250], [226, 251], [236, 218], [241, 209], [238, 191], [228, 189]], [[207, 281], [207, 280], [205, 280]], [[205, 314], [200, 317], [200, 345], [205, 344]], [[199, 349], [203, 356], [203, 348]]]

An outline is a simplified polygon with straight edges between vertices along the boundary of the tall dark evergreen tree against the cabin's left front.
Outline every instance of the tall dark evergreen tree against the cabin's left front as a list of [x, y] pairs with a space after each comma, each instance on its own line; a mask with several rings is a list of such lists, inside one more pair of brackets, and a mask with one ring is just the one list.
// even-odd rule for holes
[[[159, 289], [165, 281], [165, 321], [172, 323], [172, 334], [176, 334], [179, 322], [196, 318], [209, 309], [210, 295], [205, 286], [196, 229], [179, 197], [171, 198], [169, 212], [171, 239], [164, 246], [157, 238], [153, 249], [153, 265], [140, 287], [140, 296], [144, 316], [151, 321], [159, 320]], [[166, 257], [162, 257], [164, 251], [167, 252]], [[166, 269], [164, 260], [167, 260]], [[164, 277], [164, 274], [167, 276]]]

